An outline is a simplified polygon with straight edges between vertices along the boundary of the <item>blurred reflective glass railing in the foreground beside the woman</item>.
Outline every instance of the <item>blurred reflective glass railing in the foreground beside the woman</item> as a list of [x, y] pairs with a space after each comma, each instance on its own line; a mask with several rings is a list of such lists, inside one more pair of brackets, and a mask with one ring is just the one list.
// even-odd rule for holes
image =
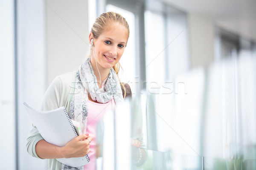
[[[255, 61], [198, 68], [117, 106], [102, 119], [101, 167], [256, 169]], [[138, 142], [142, 153], [132, 146]]]

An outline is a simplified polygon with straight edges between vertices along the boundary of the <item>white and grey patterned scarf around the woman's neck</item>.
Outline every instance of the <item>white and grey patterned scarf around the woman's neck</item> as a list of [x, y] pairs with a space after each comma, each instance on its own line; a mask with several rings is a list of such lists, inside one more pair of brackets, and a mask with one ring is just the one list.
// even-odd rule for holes
[[[70, 119], [80, 122], [82, 133], [86, 133], [88, 116], [88, 94], [99, 103], [109, 102], [114, 98], [116, 105], [123, 102], [122, 89], [119, 79], [113, 68], [110, 69], [108, 78], [104, 80], [103, 87], [99, 89], [94, 75], [90, 58], [79, 67], [76, 73], [75, 93], [70, 102]], [[63, 170], [83, 170], [81, 167], [70, 167], [62, 164]]]

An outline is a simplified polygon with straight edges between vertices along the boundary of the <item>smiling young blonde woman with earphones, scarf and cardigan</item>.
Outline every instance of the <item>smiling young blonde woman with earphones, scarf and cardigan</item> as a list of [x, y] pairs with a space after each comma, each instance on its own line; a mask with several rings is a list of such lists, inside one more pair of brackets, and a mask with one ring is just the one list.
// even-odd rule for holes
[[[119, 60], [129, 37], [125, 18], [114, 12], [101, 14], [89, 35], [90, 57], [78, 71], [56, 77], [46, 91], [40, 109], [49, 111], [64, 106], [70, 119], [80, 122], [82, 133], [64, 147], [46, 142], [33, 125], [27, 138], [32, 156], [49, 159], [50, 170], [95, 170], [96, 125], [107, 109], [114, 108], [131, 95], [128, 84], [117, 77]], [[90, 163], [69, 167], [57, 158], [90, 157]]]

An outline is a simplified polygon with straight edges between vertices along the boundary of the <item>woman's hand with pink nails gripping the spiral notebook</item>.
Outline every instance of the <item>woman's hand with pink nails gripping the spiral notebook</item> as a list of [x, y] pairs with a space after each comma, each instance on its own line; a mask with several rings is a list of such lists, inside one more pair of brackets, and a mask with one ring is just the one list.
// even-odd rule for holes
[[89, 134], [81, 134], [62, 147], [61, 155], [64, 158], [82, 157], [90, 152], [90, 141], [93, 137]]

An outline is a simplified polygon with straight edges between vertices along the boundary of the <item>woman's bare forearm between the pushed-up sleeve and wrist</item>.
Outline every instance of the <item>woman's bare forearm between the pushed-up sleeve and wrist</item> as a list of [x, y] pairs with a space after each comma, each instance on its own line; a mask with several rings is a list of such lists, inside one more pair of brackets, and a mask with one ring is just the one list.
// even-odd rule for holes
[[56, 159], [65, 157], [62, 147], [50, 144], [45, 140], [39, 141], [35, 145], [35, 150], [37, 155], [43, 159]]

